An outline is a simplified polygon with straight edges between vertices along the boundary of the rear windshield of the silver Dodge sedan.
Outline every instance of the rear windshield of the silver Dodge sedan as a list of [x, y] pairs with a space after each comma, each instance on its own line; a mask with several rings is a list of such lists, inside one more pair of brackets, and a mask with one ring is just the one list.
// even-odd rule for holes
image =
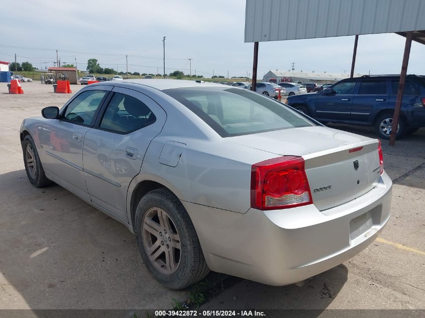
[[189, 87], [163, 92], [184, 104], [221, 137], [316, 126], [282, 103], [246, 89]]

